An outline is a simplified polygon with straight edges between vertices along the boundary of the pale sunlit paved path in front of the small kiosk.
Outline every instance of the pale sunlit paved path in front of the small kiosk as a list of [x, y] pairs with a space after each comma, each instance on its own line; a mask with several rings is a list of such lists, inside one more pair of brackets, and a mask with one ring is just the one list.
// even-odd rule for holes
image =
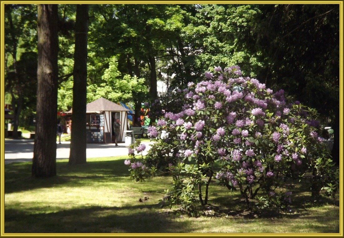
[[[69, 157], [69, 141], [62, 141], [57, 144], [56, 159], [67, 159]], [[150, 149], [152, 142], [142, 142], [146, 144], [146, 150]], [[128, 155], [128, 147], [124, 143], [115, 144], [87, 144], [86, 158], [111, 157], [118, 155]], [[12, 162], [31, 161], [33, 158], [33, 140], [5, 140], [5, 164]]]

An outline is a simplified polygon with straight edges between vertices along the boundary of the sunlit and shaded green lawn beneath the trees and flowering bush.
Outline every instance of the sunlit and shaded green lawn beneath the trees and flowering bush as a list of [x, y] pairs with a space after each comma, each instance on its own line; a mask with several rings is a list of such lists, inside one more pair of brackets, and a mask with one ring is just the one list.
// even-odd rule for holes
[[[312, 201], [309, 192], [294, 187], [292, 213], [246, 214], [238, 192], [211, 186], [210, 203], [221, 206], [221, 216], [198, 218], [159, 208], [171, 178], [159, 176], [132, 181], [126, 156], [88, 159], [70, 166], [57, 161], [58, 176], [31, 177], [31, 163], [5, 166], [5, 232], [161, 232], [270, 233], [339, 232], [338, 199]], [[149, 197], [139, 202], [139, 198]]]

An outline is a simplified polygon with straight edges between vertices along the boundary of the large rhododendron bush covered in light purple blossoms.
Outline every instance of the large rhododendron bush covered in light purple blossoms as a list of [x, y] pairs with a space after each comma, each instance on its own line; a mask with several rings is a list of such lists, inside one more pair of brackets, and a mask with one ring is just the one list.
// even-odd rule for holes
[[274, 93], [257, 79], [241, 76], [237, 66], [215, 67], [205, 80], [189, 83], [173, 97], [184, 105], [175, 113], [165, 111], [148, 128], [155, 143], [147, 156], [138, 160], [142, 144], [137, 142], [126, 160], [137, 181], [159, 171], [171, 173], [170, 204], [194, 212], [197, 203], [208, 203], [213, 180], [239, 190], [248, 208], [287, 208], [292, 197], [287, 184], [295, 178], [307, 180], [313, 195], [337, 191], [338, 170], [318, 137], [317, 112], [288, 103], [283, 90]]

